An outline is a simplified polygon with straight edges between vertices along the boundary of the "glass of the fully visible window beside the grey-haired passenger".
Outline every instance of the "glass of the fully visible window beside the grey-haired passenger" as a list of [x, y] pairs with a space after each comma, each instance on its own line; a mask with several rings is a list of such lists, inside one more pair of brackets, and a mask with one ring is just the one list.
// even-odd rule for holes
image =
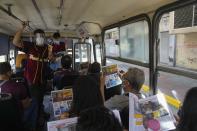
[[[112, 32], [114, 31], [116, 31], [118, 35], [116, 38], [119, 38], [116, 39], [119, 41], [118, 43], [114, 42], [116, 43], [114, 45], [116, 45], [118, 53], [115, 53], [115, 50], [107, 52], [110, 50], [107, 46], [107, 44], [109, 44], [108, 41], [111, 40], [107, 39], [110, 37], [109, 32], [111, 33], [111, 36], [113, 36]], [[126, 23], [125, 25], [120, 26], [120, 28], [107, 30], [105, 32], [105, 44], [106, 55], [108, 55], [106, 57], [106, 64], [117, 64], [118, 69], [125, 72], [128, 68], [132, 67], [143, 70], [145, 73], [144, 87], [149, 89], [149, 27], [147, 21], [141, 20], [130, 24]], [[114, 58], [114, 56], [117, 58]]]

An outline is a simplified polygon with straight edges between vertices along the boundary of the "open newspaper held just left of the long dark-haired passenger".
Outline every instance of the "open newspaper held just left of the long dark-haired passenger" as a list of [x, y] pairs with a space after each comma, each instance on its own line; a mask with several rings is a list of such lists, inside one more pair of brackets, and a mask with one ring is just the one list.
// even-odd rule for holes
[[72, 89], [63, 89], [51, 92], [53, 112], [55, 117], [68, 117], [71, 108], [73, 92]]

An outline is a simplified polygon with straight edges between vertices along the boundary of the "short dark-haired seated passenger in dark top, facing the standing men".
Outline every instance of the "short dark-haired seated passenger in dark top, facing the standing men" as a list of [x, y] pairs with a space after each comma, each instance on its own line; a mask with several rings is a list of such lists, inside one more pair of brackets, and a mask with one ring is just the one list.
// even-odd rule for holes
[[78, 77], [78, 73], [71, 68], [72, 58], [69, 55], [65, 55], [61, 58], [62, 68], [54, 73], [54, 86], [57, 89], [62, 89], [66, 86], [72, 86], [75, 79]]

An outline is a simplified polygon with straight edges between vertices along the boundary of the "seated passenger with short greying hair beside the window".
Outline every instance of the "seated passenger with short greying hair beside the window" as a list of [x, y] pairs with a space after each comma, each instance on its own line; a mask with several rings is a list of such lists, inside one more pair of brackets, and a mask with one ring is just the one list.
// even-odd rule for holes
[[109, 109], [122, 110], [129, 105], [128, 93], [133, 93], [140, 98], [140, 89], [142, 88], [145, 76], [144, 72], [138, 68], [129, 68], [123, 75], [123, 95], [115, 95], [105, 102], [105, 106]]

